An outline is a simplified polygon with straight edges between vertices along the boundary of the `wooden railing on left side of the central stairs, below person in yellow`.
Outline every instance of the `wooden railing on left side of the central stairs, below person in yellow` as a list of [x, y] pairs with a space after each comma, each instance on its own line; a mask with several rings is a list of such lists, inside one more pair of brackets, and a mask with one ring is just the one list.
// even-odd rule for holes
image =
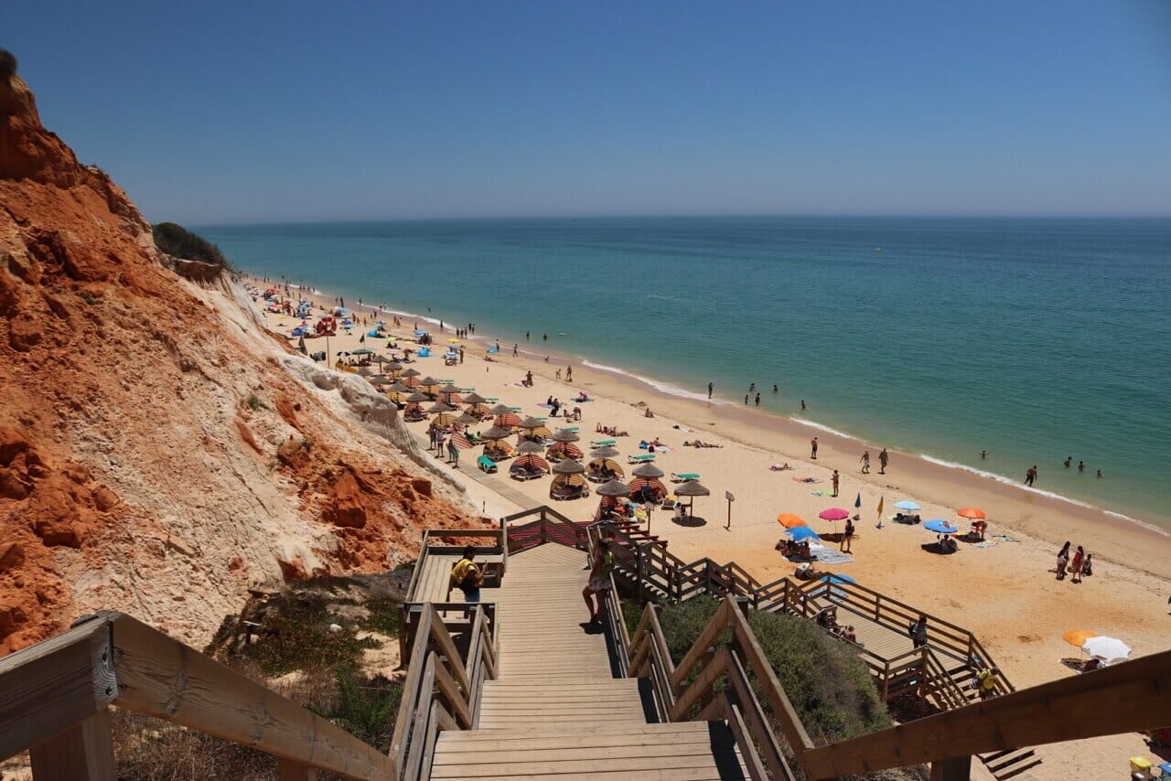
[[484, 608], [473, 605], [465, 662], [443, 617], [424, 604], [390, 745], [397, 781], [427, 777], [440, 729], [475, 728], [484, 681], [497, 677], [497, 640]]

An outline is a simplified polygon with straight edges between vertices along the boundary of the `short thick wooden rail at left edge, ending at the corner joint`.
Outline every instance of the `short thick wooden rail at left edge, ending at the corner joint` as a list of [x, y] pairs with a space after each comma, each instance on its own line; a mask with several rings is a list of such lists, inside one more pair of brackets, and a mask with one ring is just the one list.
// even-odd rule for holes
[[0, 692], [0, 759], [103, 712], [118, 696], [109, 621], [87, 621], [4, 657]]

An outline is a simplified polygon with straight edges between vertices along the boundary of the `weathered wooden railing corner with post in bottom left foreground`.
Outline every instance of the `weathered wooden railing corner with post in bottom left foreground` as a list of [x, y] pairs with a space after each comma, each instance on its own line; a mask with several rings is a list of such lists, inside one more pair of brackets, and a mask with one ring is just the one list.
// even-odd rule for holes
[[111, 705], [272, 754], [282, 780], [396, 775], [374, 746], [121, 612], [4, 657], [0, 692], [0, 759], [28, 749], [36, 781], [117, 777]]

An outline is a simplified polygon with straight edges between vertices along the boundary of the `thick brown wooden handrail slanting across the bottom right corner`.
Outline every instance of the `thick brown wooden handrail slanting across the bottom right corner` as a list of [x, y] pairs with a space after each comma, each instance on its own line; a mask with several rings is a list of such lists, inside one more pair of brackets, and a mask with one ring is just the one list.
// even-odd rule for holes
[[1163, 651], [815, 748], [803, 766], [810, 779], [831, 779], [1155, 729], [1171, 720], [1169, 692], [1171, 651]]

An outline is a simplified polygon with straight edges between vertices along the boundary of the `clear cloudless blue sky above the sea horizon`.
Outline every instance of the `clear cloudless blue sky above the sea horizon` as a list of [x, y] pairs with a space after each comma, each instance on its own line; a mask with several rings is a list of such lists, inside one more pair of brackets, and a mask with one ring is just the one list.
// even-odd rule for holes
[[6, 2], [151, 220], [1171, 215], [1171, 2]]

